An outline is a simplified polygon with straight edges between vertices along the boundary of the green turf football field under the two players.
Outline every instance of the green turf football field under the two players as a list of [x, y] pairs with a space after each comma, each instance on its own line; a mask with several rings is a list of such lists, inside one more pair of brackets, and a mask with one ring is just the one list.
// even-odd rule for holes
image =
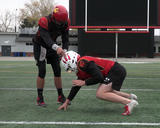
[[[67, 111], [58, 111], [50, 65], [44, 90], [48, 106], [36, 106], [35, 62], [0, 61], [0, 128], [159, 128], [160, 63], [122, 64], [127, 69], [122, 91], [135, 93], [139, 102], [130, 116], [121, 115], [123, 105], [96, 99], [97, 85], [83, 87]], [[62, 79], [67, 96], [76, 77], [62, 70]]]

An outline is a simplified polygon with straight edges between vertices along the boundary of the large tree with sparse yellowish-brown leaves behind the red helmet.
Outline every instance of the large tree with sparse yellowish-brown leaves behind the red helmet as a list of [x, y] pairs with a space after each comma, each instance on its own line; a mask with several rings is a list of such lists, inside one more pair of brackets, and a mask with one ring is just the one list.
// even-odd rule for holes
[[20, 21], [27, 19], [33, 24], [37, 25], [40, 17], [46, 16], [53, 11], [55, 0], [31, 0], [26, 3], [23, 9], [20, 9]]

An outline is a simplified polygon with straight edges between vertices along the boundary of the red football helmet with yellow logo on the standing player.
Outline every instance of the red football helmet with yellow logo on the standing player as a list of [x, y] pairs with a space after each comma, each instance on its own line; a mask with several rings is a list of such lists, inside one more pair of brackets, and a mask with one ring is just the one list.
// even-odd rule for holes
[[53, 19], [56, 24], [65, 24], [68, 21], [67, 9], [62, 5], [55, 6], [53, 10]]

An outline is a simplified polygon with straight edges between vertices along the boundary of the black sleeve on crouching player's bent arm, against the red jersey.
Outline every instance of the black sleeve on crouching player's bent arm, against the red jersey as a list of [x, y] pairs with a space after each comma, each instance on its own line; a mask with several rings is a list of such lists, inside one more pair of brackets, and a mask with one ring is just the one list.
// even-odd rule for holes
[[91, 75], [90, 78], [85, 80], [87, 86], [103, 82], [104, 77], [95, 62], [88, 62], [85, 70]]

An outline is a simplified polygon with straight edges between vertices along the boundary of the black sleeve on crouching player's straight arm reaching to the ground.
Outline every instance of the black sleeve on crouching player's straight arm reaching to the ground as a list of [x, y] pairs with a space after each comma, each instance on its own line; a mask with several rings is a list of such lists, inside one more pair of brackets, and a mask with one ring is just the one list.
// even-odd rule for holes
[[73, 86], [72, 88], [71, 88], [71, 91], [70, 91], [70, 93], [69, 93], [69, 95], [68, 95], [68, 99], [70, 100], [70, 101], [72, 101], [73, 100], [73, 98], [76, 96], [76, 94], [78, 93], [78, 91], [80, 90], [80, 86]]

